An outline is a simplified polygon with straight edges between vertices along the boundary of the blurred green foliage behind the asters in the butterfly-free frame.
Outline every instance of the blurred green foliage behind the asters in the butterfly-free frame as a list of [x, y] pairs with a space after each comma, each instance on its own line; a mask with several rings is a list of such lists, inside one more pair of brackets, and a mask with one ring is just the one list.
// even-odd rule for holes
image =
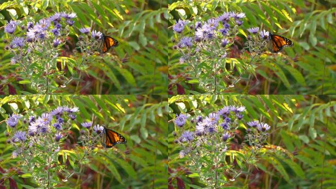
[[[249, 174], [241, 174], [227, 189], [335, 189], [336, 95], [176, 95], [168, 103], [169, 189], [205, 187], [188, 177], [186, 158], [178, 158], [172, 118], [180, 112], [208, 115], [225, 105], [245, 106], [244, 122], [271, 126], [256, 165], [245, 167]], [[235, 134], [229, 149], [243, 150], [246, 126]]]

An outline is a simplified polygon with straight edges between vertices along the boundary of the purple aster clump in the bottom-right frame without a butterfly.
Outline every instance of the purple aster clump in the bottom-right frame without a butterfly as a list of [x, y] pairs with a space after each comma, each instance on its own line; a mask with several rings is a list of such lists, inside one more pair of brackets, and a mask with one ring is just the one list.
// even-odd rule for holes
[[[225, 19], [225, 16], [227, 15], [223, 15], [222, 18]], [[237, 16], [237, 18], [240, 17], [242, 15]], [[232, 146], [230, 143], [236, 142], [233, 138], [239, 133], [236, 131], [238, 127], [244, 124], [242, 119], [245, 111], [245, 106], [224, 106], [218, 111], [210, 112], [204, 116], [196, 115], [195, 118], [190, 118], [190, 122], [187, 122], [190, 117], [189, 114], [176, 114], [174, 119], [176, 128], [172, 134], [175, 137], [174, 142], [181, 147], [179, 158], [190, 160], [190, 170], [199, 175], [207, 172], [208, 169], [205, 169], [205, 167], [216, 169], [212, 173], [207, 172], [208, 175], [201, 176], [207, 184], [211, 183], [212, 179], [216, 177], [214, 175], [209, 176], [210, 174], [223, 175], [225, 171], [230, 169], [227, 167], [234, 166], [233, 164], [227, 164], [225, 158], [218, 159], [217, 157], [225, 157], [225, 152]], [[270, 126], [258, 121], [247, 122], [247, 125], [250, 126], [244, 136], [246, 139], [244, 142], [247, 142], [243, 142], [241, 145], [251, 146], [251, 149], [253, 149], [252, 155], [255, 156], [256, 152], [264, 145], [268, 136], [266, 131], [270, 129]], [[200, 162], [200, 159], [212, 159], [213, 161], [209, 163], [206, 161]], [[201, 163], [202, 166], [195, 168], [198, 163]], [[225, 164], [225, 167], [227, 167], [214, 167], [215, 164]]]

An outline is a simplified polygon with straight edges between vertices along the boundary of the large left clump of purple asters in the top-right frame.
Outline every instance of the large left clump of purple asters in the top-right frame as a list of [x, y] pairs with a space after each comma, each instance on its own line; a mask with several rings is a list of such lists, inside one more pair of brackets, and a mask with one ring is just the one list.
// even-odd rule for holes
[[172, 48], [181, 54], [179, 63], [188, 64], [185, 75], [197, 79], [198, 85], [205, 91], [214, 93], [214, 90], [224, 89], [223, 78], [232, 75], [233, 70], [223, 71], [227, 69], [224, 68], [227, 51], [234, 43], [245, 17], [242, 12], [224, 12], [207, 19], [204, 19], [205, 16], [191, 21], [179, 19], [172, 26], [176, 33]]

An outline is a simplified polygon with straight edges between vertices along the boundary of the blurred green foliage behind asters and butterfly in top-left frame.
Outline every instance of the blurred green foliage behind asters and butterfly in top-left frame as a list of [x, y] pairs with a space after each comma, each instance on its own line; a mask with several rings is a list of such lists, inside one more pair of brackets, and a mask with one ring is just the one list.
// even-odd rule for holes
[[[164, 0], [0, 0], [0, 94], [36, 93], [19, 84], [16, 65], [4, 50], [6, 20], [38, 21], [55, 12], [75, 12], [71, 35], [60, 52], [74, 58], [79, 29], [91, 27], [116, 38], [119, 46], [103, 57], [94, 55], [89, 68], [78, 71], [61, 93], [167, 94], [167, 2]], [[66, 70], [66, 69], [65, 69]], [[70, 76], [70, 73], [67, 73]]]

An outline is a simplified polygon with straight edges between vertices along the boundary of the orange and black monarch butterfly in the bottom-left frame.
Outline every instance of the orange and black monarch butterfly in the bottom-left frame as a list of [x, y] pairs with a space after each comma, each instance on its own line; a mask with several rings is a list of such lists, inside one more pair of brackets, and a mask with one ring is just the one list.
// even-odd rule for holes
[[116, 144], [126, 144], [127, 140], [121, 134], [104, 127], [101, 144], [104, 148], [112, 148]]

